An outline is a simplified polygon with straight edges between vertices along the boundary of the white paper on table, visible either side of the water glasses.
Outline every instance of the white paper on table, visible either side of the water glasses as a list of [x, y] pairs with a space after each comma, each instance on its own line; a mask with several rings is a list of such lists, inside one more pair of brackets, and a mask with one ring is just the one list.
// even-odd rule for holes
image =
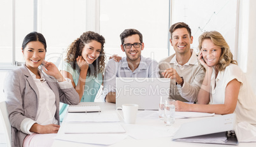
[[[215, 113], [200, 113], [200, 112], [181, 112], [175, 111], [175, 118], [197, 118], [197, 117], [206, 117], [206, 116], [214, 116]], [[159, 119], [158, 111], [138, 111], [138, 117], [148, 118], [148, 119]]]

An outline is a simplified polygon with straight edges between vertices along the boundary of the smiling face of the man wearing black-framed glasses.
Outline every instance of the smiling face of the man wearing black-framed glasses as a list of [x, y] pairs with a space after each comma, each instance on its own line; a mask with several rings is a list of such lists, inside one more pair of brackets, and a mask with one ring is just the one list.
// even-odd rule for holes
[[[132, 36], [128, 36], [127, 38], [124, 39], [124, 45], [127, 43], [131, 43], [131, 44], [141, 43], [141, 41], [139, 41], [139, 35], [134, 34]], [[134, 48], [133, 45], [131, 48], [125, 48], [124, 45], [121, 45], [121, 48], [122, 48], [122, 51], [125, 52], [126, 54], [127, 61], [139, 62], [141, 57], [141, 50], [144, 49], [144, 43], [141, 43], [141, 46], [139, 48]]]

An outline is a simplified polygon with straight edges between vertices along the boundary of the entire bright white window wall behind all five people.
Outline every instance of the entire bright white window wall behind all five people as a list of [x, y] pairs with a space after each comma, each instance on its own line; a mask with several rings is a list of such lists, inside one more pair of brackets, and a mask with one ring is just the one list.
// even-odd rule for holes
[[[104, 36], [107, 59], [114, 53], [124, 57], [119, 36], [129, 28], [143, 34], [142, 55], [160, 61], [174, 53], [169, 44], [169, 27], [175, 22], [190, 25], [192, 48], [197, 48], [202, 32], [216, 30], [224, 35], [234, 53], [238, 37], [236, 7], [234, 0], [1, 0], [0, 81], [3, 83], [4, 69], [24, 62], [22, 41], [32, 31], [45, 36], [46, 60], [57, 64], [65, 57], [66, 48], [85, 31]], [[3, 84], [0, 94], [2, 88]]]

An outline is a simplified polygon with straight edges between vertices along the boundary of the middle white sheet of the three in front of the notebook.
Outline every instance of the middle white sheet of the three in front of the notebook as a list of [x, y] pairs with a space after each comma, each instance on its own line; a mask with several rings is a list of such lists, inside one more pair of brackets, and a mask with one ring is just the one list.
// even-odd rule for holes
[[120, 123], [65, 123], [65, 134], [125, 133]]

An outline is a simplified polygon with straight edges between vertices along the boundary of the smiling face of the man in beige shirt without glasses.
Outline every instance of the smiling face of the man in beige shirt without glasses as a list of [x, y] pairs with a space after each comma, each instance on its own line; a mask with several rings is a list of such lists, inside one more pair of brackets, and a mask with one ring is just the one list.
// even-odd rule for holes
[[190, 44], [193, 43], [193, 37], [189, 37], [186, 28], [179, 28], [173, 32], [170, 42], [176, 53], [185, 54], [190, 52]]

